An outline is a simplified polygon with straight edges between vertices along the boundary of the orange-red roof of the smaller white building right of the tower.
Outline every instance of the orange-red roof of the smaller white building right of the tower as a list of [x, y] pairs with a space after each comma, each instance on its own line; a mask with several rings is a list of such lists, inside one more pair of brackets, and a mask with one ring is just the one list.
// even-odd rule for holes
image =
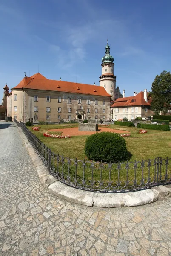
[[150, 106], [151, 98], [147, 97], [147, 100], [148, 101], [146, 102], [144, 99], [144, 92], [140, 92], [136, 96], [116, 99], [114, 103], [111, 105], [111, 108], [141, 106], [141, 105]]

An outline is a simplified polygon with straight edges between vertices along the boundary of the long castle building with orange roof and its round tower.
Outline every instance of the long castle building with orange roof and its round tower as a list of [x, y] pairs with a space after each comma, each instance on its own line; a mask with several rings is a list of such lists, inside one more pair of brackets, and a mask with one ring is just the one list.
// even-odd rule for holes
[[102, 75], [100, 86], [80, 84], [68, 81], [47, 79], [40, 73], [31, 77], [25, 75], [20, 83], [5, 88], [4, 105], [7, 116], [27, 122], [33, 118], [48, 122], [63, 119], [111, 119], [111, 104], [122, 97], [119, 87], [116, 89], [114, 75], [114, 58], [110, 55], [110, 47], [105, 47], [102, 58]]

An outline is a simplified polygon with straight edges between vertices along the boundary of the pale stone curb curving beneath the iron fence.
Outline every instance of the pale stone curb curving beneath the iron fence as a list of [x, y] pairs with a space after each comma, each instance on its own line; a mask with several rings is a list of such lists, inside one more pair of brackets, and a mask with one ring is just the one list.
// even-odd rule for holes
[[36, 168], [40, 182], [46, 189], [49, 189], [50, 192], [57, 195], [59, 198], [86, 206], [111, 208], [150, 204], [171, 196], [171, 185], [160, 185], [151, 189], [125, 193], [96, 193], [67, 186], [55, 179], [52, 175], [49, 175], [43, 161], [40, 160], [37, 153], [34, 151], [34, 148], [29, 143], [22, 129], [18, 127], [18, 130]]

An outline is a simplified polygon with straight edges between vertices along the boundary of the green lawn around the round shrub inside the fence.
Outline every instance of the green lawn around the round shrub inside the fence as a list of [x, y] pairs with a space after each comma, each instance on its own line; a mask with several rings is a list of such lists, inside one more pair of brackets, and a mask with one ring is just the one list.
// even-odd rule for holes
[[[48, 132], [48, 129], [57, 129], [57, 128], [69, 128], [69, 126], [63, 127], [62, 125], [40, 125], [40, 131], [33, 131], [31, 127], [28, 127], [33, 134], [35, 134], [48, 148], [51, 148], [51, 151], [55, 152], [55, 154], [63, 155], [64, 157], [70, 157], [77, 160], [88, 160], [84, 154], [84, 145], [85, 140], [88, 137], [85, 136], [73, 136], [70, 139], [54, 139], [44, 137], [43, 133]], [[155, 131], [155, 130], [147, 130], [146, 134], [138, 134], [139, 129], [134, 127], [123, 127], [118, 125], [110, 125], [111, 129], [128, 131], [131, 136], [126, 137], [126, 143], [128, 151], [131, 153], [131, 158], [129, 161], [134, 162], [155, 159], [157, 157], [169, 157], [171, 156], [171, 131]], [[61, 134], [61, 132], [48, 132], [53, 134]], [[142, 167], [138, 164], [136, 169], [136, 178], [138, 183], [140, 183], [141, 179], [144, 178], [144, 182], [147, 182], [148, 178], [148, 163], [145, 163], [145, 167], [143, 167], [143, 177], [142, 177]], [[55, 168], [57, 167], [57, 161], [54, 163]], [[82, 162], [77, 165], [77, 182], [82, 183], [83, 179], [86, 180], [103, 180], [103, 188], [105, 186], [105, 181], [110, 180], [109, 172], [111, 175], [111, 180], [113, 181], [113, 186], [117, 185], [118, 180], [130, 180], [129, 185], [133, 184], [134, 180], [134, 164], [130, 165], [130, 169], [126, 169], [125, 165], [121, 166], [120, 172], [118, 174], [117, 166], [112, 166], [111, 168], [108, 165], [104, 165], [101, 169], [99, 164], [97, 163], [94, 166], [93, 177], [91, 175], [91, 166], [90, 163], [85, 164], [85, 168]], [[65, 179], [67, 179], [68, 170], [69, 175], [75, 177], [75, 165], [74, 161], [71, 162], [68, 168], [68, 161], [65, 160], [65, 163], [62, 164], [60, 162], [59, 169], [64, 175]], [[151, 180], [154, 178], [154, 167], [150, 167], [149, 176]], [[171, 171], [168, 168], [168, 172]], [[83, 178], [84, 173], [84, 178]], [[161, 169], [162, 175], [165, 173], [165, 166], [162, 166]], [[86, 184], [89, 184], [88, 181]], [[98, 185], [98, 183], [95, 183]], [[124, 186], [124, 182], [121, 182], [121, 186]]]

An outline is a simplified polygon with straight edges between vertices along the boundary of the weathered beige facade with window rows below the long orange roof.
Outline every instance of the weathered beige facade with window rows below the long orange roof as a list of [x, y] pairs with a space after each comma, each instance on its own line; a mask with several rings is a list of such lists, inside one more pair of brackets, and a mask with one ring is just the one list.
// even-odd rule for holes
[[[17, 95], [15, 101], [14, 95]], [[47, 102], [47, 96], [49, 102]], [[12, 116], [22, 122], [27, 122], [29, 118], [33, 118], [34, 122], [38, 120], [58, 122], [62, 119], [64, 121], [88, 119], [88, 116], [91, 119], [99, 119], [99, 117], [103, 120], [110, 119], [110, 97], [108, 96], [14, 89], [12, 105]], [[8, 104], [8, 114], [10, 109]]]

